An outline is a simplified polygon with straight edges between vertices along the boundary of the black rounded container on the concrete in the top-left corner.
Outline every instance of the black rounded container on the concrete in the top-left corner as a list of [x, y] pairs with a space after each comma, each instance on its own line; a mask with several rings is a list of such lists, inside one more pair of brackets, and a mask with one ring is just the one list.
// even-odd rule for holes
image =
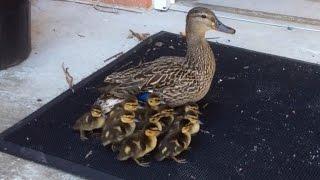
[[30, 1], [0, 0], [0, 69], [25, 60], [31, 51]]

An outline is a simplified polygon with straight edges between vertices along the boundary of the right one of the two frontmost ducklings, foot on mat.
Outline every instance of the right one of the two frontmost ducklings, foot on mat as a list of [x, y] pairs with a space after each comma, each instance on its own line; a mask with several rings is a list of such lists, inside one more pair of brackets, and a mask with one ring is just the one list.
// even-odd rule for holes
[[165, 158], [171, 158], [177, 163], [186, 163], [185, 159], [177, 159], [181, 152], [187, 150], [191, 143], [192, 125], [189, 121], [182, 120], [179, 128], [172, 129], [161, 140], [158, 145], [155, 159], [162, 161]]

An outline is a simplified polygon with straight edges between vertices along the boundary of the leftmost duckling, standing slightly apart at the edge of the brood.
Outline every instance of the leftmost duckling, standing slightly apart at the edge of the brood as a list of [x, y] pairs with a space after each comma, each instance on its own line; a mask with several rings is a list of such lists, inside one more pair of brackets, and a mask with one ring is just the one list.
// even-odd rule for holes
[[80, 131], [80, 139], [87, 140], [85, 131], [100, 129], [105, 124], [105, 118], [99, 106], [93, 106], [91, 112], [82, 115], [73, 125], [74, 130]]

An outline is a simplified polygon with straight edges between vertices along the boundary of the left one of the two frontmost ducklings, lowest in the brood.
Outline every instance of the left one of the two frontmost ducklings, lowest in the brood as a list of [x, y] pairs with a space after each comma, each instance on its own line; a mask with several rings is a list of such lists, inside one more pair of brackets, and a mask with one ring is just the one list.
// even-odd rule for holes
[[140, 158], [155, 149], [161, 131], [159, 122], [149, 123], [142, 132], [133, 134], [118, 145], [117, 159], [125, 161], [132, 158], [139, 166], [148, 167], [149, 162], [140, 162]]

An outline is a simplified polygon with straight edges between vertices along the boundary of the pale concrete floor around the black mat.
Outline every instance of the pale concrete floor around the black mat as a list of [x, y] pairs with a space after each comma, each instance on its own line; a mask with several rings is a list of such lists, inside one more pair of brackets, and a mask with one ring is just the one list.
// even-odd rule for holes
[[[188, 10], [188, 7], [175, 6]], [[128, 30], [156, 33], [184, 30], [185, 13], [145, 11], [142, 14], [120, 11], [109, 14], [90, 6], [50, 0], [32, 1], [32, 46], [22, 64], [0, 71], [0, 131], [37, 110], [68, 86], [61, 69], [70, 68], [75, 83], [108, 62], [104, 59], [127, 51], [138, 42], [127, 39]], [[320, 63], [320, 32], [271, 26], [256, 22], [320, 27], [263, 20], [217, 12], [236, 35], [208, 33], [215, 41], [308, 62]], [[130, 18], [128, 18], [130, 16]], [[249, 21], [244, 21], [250, 20]], [[254, 22], [251, 22], [254, 21]], [[156, 22], [156, 23], [155, 23]], [[37, 99], [41, 99], [38, 102]], [[78, 179], [73, 175], [0, 153], [0, 179]]]

